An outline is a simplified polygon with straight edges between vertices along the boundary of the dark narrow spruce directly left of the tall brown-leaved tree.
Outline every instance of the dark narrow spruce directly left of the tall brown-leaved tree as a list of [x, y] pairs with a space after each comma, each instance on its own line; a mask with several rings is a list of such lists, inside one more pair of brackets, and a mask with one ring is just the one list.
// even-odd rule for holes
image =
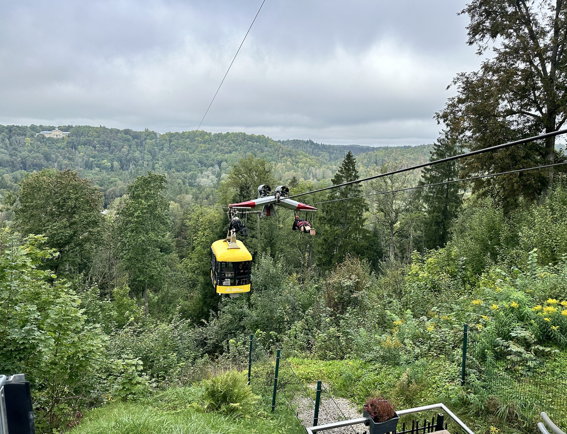
[[[430, 152], [429, 161], [452, 157], [462, 153], [456, 136], [445, 130], [442, 137]], [[450, 161], [438, 165], [425, 167], [421, 174], [419, 185], [447, 182], [458, 177], [459, 163]], [[424, 187], [420, 190], [421, 201], [425, 206], [424, 246], [436, 248], [447, 243], [450, 222], [455, 218], [457, 211], [463, 203], [459, 183], [447, 183], [439, 186]]]

